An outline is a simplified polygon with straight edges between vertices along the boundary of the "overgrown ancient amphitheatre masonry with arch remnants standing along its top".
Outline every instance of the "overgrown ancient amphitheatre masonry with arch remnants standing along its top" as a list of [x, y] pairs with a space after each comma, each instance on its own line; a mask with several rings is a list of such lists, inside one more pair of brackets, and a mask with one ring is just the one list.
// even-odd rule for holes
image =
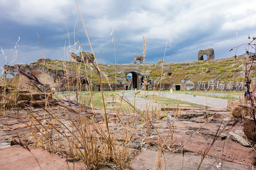
[[[98, 63], [98, 65], [100, 71], [102, 71], [102, 75], [105, 75], [108, 78], [107, 80], [104, 77], [104, 79], [102, 80], [102, 83], [105, 84], [103, 85], [104, 90], [110, 90], [110, 88], [113, 88], [115, 86], [118, 87], [119, 90], [142, 90], [144, 88], [157, 89], [158, 86], [156, 84], [158, 83], [157, 81], [160, 80], [161, 74], [163, 74], [161, 82], [161, 89], [163, 90], [170, 90], [170, 88], [174, 90], [185, 90], [185, 82], [182, 82], [182, 80], [190, 80], [194, 83], [194, 87], [191, 90], [242, 90], [242, 88], [244, 87], [243, 82], [235, 82], [232, 79], [244, 76], [243, 71], [237, 71], [234, 73], [234, 71], [230, 72], [230, 70], [227, 70], [228, 73], [232, 75], [234, 74], [234, 76], [232, 78], [229, 78], [226, 82], [224, 82], [218, 80], [218, 78], [220, 77], [220, 74], [218, 73], [219, 68], [214, 66], [215, 63], [225, 63], [225, 65], [234, 64], [233, 57], [214, 59], [214, 51], [212, 48], [210, 48], [207, 50], [200, 50], [198, 52], [198, 59], [203, 59], [202, 56], [204, 54], [207, 55], [207, 60], [209, 60], [207, 61], [207, 65], [210, 65], [210, 68], [207, 68], [207, 65], [201, 66], [206, 61], [186, 61], [183, 63], [167, 63], [160, 59], [157, 64], [144, 63], [142, 55], [135, 55], [133, 63], [131, 64], [108, 65], [104, 63]], [[61, 91], [65, 91], [64, 85], [59, 85], [58, 81], [62, 77], [64, 77], [66, 73], [76, 74], [76, 68], [79, 65], [81, 67], [81, 71], [85, 71], [85, 68], [88, 68], [90, 70], [90, 68], [92, 68], [91, 62], [94, 62], [94, 56], [92, 53], [89, 52], [80, 53], [80, 55], [76, 55], [75, 53], [71, 52], [70, 58], [71, 61], [57, 59], [54, 61], [45, 58], [39, 59], [37, 62], [30, 64], [16, 64], [14, 66], [4, 65], [1, 78], [9, 78], [13, 76], [18, 81], [20, 81], [22, 79], [22, 76], [19, 75], [16, 71], [14, 71], [15, 67], [17, 67], [26, 73], [33, 73], [40, 81], [45, 82], [44, 84], [49, 85], [49, 87], [51, 88], [56, 88], [55, 86], [58, 86], [58, 89], [60, 88]], [[241, 56], [240, 59], [243, 60], [243, 56]], [[140, 63], [137, 63], [137, 60], [140, 60]], [[77, 62], [80, 64], [77, 64]], [[224, 66], [223, 64], [223, 67], [226, 66]], [[96, 75], [97, 77], [96, 70], [93, 70], [93, 75]], [[210, 74], [210, 78], [206, 78], [203, 81], [199, 81], [202, 77], [202, 74], [207, 74], [210, 72], [213, 72]], [[92, 80], [90, 79], [86, 80], [84, 78], [81, 80], [81, 84], [84, 87], [84, 90], [86, 90], [86, 86], [90, 85], [91, 83]], [[109, 86], [109, 83], [115, 86]], [[93, 84], [95, 84], [95, 87], [99, 89], [97, 82], [93, 82]]]

